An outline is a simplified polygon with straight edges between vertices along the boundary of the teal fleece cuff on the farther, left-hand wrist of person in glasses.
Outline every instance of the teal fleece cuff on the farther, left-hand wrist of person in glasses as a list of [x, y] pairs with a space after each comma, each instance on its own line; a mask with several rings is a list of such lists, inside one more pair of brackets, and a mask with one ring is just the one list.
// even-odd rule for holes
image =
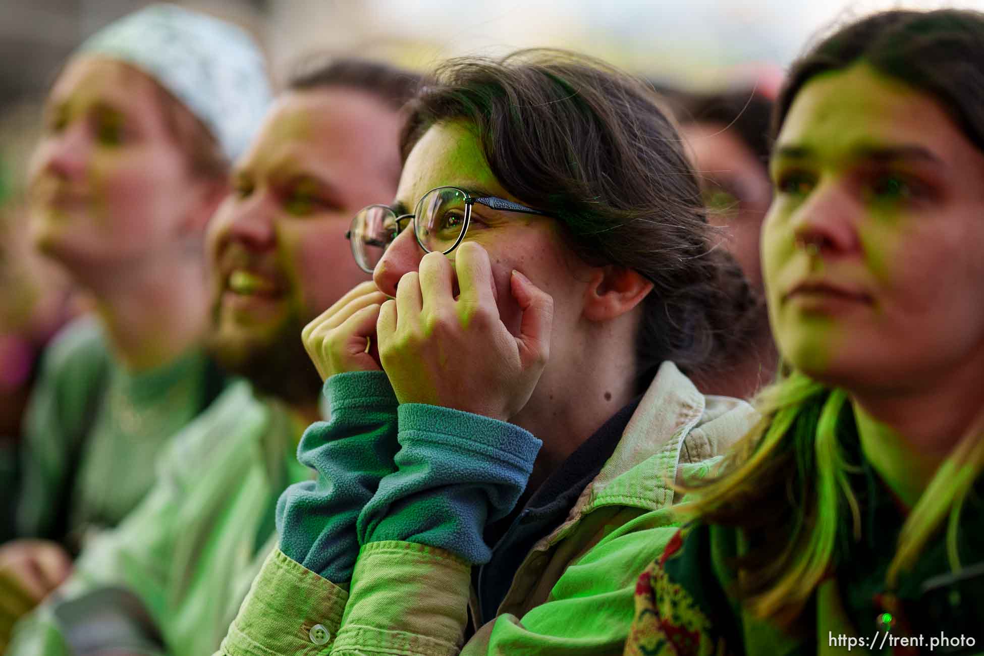
[[277, 500], [280, 551], [335, 583], [351, 580], [355, 521], [380, 480], [396, 470], [397, 397], [383, 372], [336, 374], [325, 382], [327, 422], [312, 424], [297, 459], [318, 472]]

